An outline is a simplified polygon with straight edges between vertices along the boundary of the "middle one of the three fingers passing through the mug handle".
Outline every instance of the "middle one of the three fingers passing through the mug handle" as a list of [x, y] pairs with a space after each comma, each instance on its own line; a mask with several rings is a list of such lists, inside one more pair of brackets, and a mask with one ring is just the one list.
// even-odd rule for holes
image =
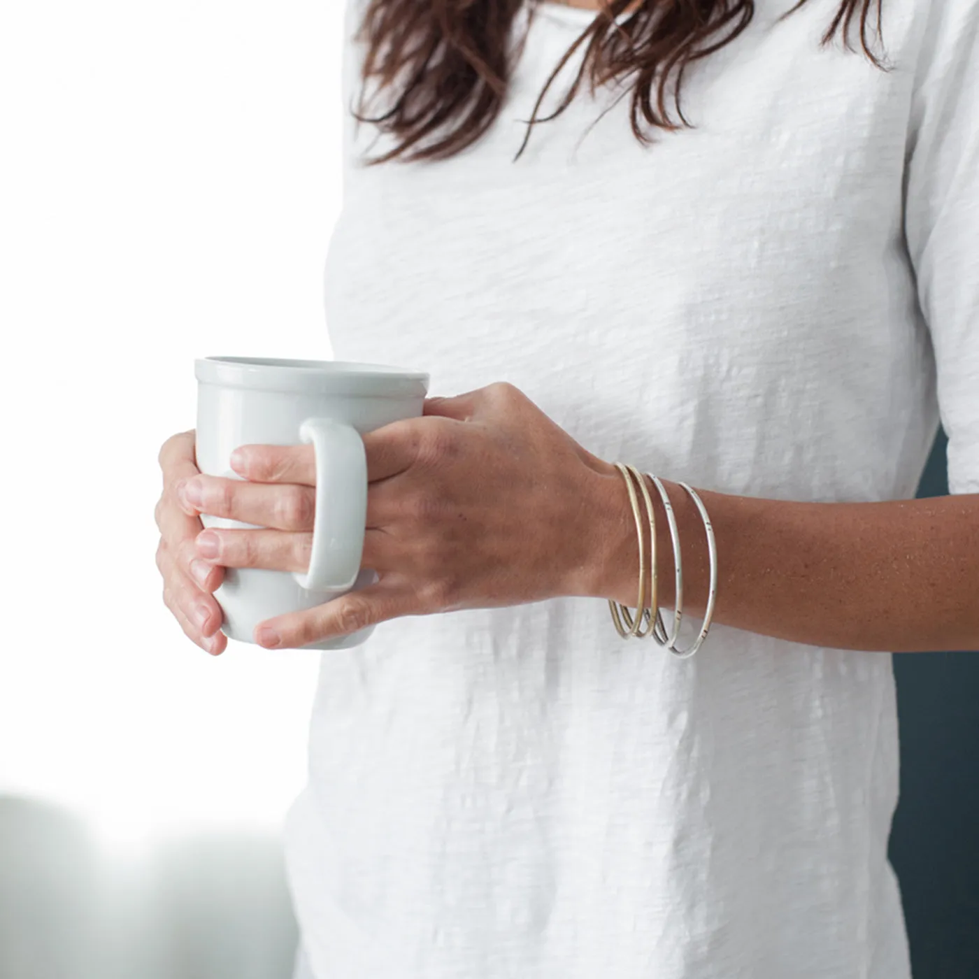
[[316, 515], [316, 489], [298, 484], [272, 486], [202, 474], [188, 480], [184, 492], [201, 513], [280, 531], [311, 531]]

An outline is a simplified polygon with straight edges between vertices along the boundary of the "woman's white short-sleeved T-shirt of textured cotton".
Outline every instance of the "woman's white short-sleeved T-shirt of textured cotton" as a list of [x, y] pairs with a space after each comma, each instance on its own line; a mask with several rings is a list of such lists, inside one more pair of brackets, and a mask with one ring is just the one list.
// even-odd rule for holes
[[[836, 0], [789, 6], [650, 149], [628, 100], [585, 135], [614, 95], [585, 90], [512, 163], [587, 23], [560, 8], [460, 156], [363, 168], [388, 144], [351, 126], [336, 356], [510, 381], [609, 461], [784, 499], [912, 496], [941, 405], [979, 491], [979, 3], [884, 0], [889, 72], [819, 47]], [[315, 979], [907, 979], [898, 787], [890, 654], [715, 626], [676, 661], [566, 598], [323, 654], [285, 844]]]

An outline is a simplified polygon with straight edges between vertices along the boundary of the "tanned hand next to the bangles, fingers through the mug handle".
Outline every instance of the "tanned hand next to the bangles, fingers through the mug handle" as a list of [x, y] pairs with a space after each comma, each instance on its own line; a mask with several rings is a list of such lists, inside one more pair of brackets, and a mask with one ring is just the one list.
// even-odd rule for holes
[[[266, 620], [256, 627], [260, 645], [295, 648], [398, 616], [593, 593], [602, 518], [621, 506], [610, 483], [621, 477], [513, 385], [427, 398], [422, 417], [368, 432], [363, 443], [361, 568], [379, 581]], [[195, 476], [179, 488], [181, 505], [267, 529], [210, 528], [198, 553], [223, 567], [306, 571], [312, 445], [242, 446], [232, 467], [244, 481]]]

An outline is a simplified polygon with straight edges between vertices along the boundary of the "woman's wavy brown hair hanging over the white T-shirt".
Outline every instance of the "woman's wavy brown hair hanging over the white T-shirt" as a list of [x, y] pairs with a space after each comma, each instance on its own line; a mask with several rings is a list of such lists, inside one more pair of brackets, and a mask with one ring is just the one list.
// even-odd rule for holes
[[[372, 123], [396, 138], [394, 149], [369, 163], [443, 160], [475, 143], [489, 129], [506, 94], [512, 67], [511, 27], [525, 2], [535, 0], [368, 0], [357, 33], [357, 39], [367, 45], [361, 75], [364, 87], [358, 108], [351, 111], [359, 121]], [[640, 143], [652, 142], [641, 121], [654, 129], [679, 128], [667, 111], [671, 78], [676, 114], [689, 126], [679, 104], [684, 70], [733, 41], [755, 14], [754, 0], [641, 0], [623, 23], [616, 23], [633, 0], [604, 2], [604, 9], [596, 12], [594, 22], [547, 79], [517, 158], [527, 145], [531, 127], [564, 112], [586, 73], [592, 92], [598, 85], [634, 75], [631, 125]], [[807, 2], [798, 0], [782, 17]], [[863, 53], [882, 69], [868, 42], [872, 7], [876, 8], [877, 36], [881, 34], [881, 2], [842, 0], [822, 44], [828, 44], [842, 28], [845, 47], [854, 50], [850, 28], [859, 18]], [[583, 44], [587, 48], [581, 68], [560, 106], [550, 116], [538, 118], [551, 83]], [[369, 80], [378, 83], [378, 91], [390, 95], [389, 108], [374, 117], [367, 116], [365, 109]]]

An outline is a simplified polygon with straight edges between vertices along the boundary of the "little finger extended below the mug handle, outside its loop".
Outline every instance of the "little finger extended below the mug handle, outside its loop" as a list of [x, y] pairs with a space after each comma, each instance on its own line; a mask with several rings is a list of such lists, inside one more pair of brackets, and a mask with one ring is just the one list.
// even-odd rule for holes
[[315, 608], [267, 619], [256, 626], [255, 640], [266, 649], [298, 649], [422, 611], [418, 595], [406, 580], [389, 576]]

